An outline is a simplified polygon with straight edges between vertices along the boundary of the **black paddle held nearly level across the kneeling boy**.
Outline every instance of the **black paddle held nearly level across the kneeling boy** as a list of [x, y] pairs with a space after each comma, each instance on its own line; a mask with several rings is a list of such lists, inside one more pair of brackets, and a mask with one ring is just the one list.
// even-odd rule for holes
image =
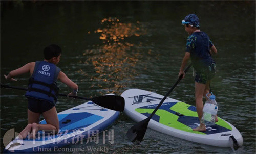
[[[10, 89], [18, 89], [18, 90], [28, 90], [27, 88], [22, 88], [22, 87], [13, 87], [9, 85], [2, 85], [1, 83], [1, 88], [10, 88]], [[58, 94], [59, 96], [65, 96], [68, 97], [66, 94]], [[80, 96], [69, 96], [73, 97], [76, 99], [84, 99], [84, 100], [91, 100], [95, 104], [108, 108], [111, 110], [115, 111], [123, 111], [124, 110], [124, 98], [121, 96], [115, 96], [115, 95], [104, 95], [104, 96], [98, 96], [98, 97], [93, 97], [93, 98], [86, 98], [86, 97], [80, 97]]]

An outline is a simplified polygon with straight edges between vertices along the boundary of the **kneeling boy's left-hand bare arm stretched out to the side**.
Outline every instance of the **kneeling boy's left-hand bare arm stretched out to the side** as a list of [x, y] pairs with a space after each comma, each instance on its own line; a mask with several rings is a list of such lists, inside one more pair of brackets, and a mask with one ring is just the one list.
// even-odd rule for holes
[[31, 62], [24, 65], [23, 67], [12, 70], [8, 75], [5, 75], [5, 79], [11, 80], [11, 81], [17, 81], [16, 79], [13, 79], [14, 76], [30, 72], [34, 65], [35, 65], [35, 62]]

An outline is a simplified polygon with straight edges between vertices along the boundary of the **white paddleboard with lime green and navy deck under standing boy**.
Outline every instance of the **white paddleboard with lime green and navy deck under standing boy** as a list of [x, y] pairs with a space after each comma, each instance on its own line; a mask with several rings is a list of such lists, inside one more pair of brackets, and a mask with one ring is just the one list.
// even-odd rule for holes
[[[146, 119], [164, 96], [140, 89], [129, 89], [121, 94], [125, 100], [124, 113], [134, 121]], [[243, 137], [232, 124], [218, 117], [206, 131], [193, 131], [200, 125], [195, 106], [167, 97], [148, 123], [153, 130], [188, 141], [219, 147], [242, 146]], [[232, 139], [234, 138], [234, 139]]]

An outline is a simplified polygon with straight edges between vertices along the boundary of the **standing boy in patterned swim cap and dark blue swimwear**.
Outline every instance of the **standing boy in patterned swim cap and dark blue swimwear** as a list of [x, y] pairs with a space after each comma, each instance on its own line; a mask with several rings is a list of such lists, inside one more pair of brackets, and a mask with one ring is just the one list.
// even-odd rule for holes
[[[203, 116], [203, 96], [209, 93], [210, 80], [215, 75], [216, 65], [211, 55], [217, 54], [217, 49], [212, 44], [209, 36], [200, 31], [199, 18], [195, 14], [189, 14], [182, 20], [182, 25], [185, 25], [185, 31], [189, 34], [186, 44], [185, 56], [182, 60], [179, 75], [185, 77], [184, 68], [189, 58], [191, 58], [192, 65], [196, 71], [195, 76], [195, 97], [198, 118], [200, 126], [193, 129], [193, 131], [206, 131], [206, 127], [201, 123]], [[208, 98], [206, 97], [206, 100]], [[215, 117], [218, 121], [217, 116]]]

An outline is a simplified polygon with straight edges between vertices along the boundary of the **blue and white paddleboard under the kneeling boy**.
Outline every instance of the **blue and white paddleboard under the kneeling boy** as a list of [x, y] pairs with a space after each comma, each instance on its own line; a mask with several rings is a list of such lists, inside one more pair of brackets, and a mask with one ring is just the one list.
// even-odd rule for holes
[[[114, 95], [114, 94], [110, 94]], [[6, 153], [35, 153], [40, 149], [60, 148], [68, 144], [79, 143], [87, 139], [90, 134], [100, 132], [111, 125], [118, 117], [119, 112], [102, 108], [92, 101], [58, 113], [59, 133], [51, 135], [47, 132], [38, 132], [36, 139], [24, 140], [16, 137], [6, 147]], [[40, 124], [46, 124], [45, 120]], [[50, 150], [53, 151], [53, 150]]]

